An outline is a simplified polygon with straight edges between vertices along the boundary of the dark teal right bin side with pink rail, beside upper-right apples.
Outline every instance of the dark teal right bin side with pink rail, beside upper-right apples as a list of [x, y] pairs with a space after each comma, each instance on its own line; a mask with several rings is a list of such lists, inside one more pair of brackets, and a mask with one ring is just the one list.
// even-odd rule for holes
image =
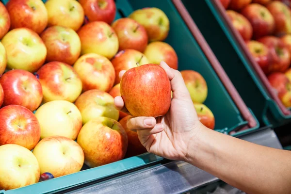
[[291, 111], [277, 97], [220, 0], [182, 0], [226, 74], [261, 125], [291, 122]]

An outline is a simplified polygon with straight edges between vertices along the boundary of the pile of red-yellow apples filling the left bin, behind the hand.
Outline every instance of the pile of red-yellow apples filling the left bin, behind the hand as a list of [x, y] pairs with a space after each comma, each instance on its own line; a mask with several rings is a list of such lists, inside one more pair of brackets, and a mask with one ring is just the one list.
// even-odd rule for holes
[[[114, 107], [119, 72], [162, 60], [178, 69], [178, 57], [163, 42], [169, 19], [162, 10], [113, 22], [115, 14], [113, 0], [0, 3], [0, 190], [146, 152], [126, 127], [130, 115]], [[202, 104], [206, 81], [181, 73], [199, 119], [213, 129]]]

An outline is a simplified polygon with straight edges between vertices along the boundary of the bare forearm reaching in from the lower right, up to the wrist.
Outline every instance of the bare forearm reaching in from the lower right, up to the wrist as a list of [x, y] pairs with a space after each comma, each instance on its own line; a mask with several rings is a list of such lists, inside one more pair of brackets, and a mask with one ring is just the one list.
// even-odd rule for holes
[[249, 194], [291, 191], [291, 152], [202, 129], [185, 161]]

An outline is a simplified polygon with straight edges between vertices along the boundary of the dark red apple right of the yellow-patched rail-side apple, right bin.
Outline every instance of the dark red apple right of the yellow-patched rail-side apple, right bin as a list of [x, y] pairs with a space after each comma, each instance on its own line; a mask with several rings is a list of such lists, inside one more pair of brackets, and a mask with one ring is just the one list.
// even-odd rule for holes
[[291, 55], [284, 42], [275, 36], [265, 36], [258, 39], [258, 41], [270, 50], [272, 61], [270, 71], [286, 71], [291, 63]]

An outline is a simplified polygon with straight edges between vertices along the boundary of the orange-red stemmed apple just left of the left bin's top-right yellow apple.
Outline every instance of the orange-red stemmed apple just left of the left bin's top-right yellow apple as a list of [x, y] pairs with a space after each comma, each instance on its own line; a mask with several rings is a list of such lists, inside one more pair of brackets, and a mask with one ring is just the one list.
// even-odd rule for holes
[[134, 49], [144, 52], [148, 43], [144, 26], [127, 17], [117, 19], [111, 26], [117, 34], [119, 50]]

